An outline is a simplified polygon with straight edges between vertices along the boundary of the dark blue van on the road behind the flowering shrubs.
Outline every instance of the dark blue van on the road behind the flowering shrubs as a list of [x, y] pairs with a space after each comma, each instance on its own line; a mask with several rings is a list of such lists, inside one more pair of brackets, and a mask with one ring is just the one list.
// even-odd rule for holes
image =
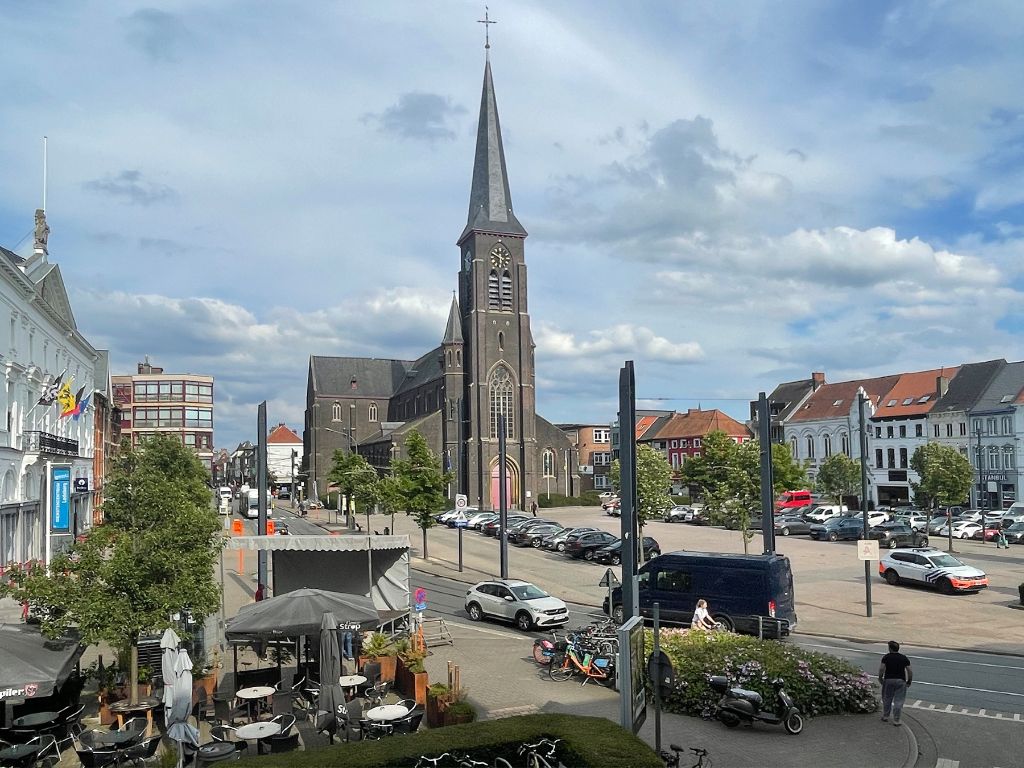
[[[648, 560], [638, 574], [640, 615], [689, 626], [697, 600], [727, 629], [764, 637], [784, 637], [797, 626], [793, 570], [785, 555], [733, 555], [720, 552], [669, 552]], [[622, 588], [615, 588], [611, 615], [623, 622]], [[604, 598], [608, 612], [608, 598]]]

